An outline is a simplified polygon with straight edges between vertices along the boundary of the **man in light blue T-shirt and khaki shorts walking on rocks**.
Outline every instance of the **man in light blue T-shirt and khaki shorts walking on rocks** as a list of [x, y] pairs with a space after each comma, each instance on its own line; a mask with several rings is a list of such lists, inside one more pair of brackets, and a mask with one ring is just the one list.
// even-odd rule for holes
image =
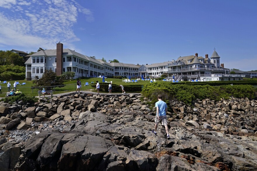
[[162, 95], [158, 95], [158, 101], [155, 103], [155, 107], [156, 107], [156, 117], [154, 119], [155, 125], [154, 125], [154, 130], [152, 130], [152, 133], [154, 135], [157, 135], [156, 133], [157, 126], [160, 122], [162, 122], [162, 125], [165, 126], [167, 139], [170, 139], [169, 128], [167, 126], [167, 116], [166, 116], [166, 112], [168, 112], [168, 109], [167, 109], [167, 104], [164, 101], [162, 101]]

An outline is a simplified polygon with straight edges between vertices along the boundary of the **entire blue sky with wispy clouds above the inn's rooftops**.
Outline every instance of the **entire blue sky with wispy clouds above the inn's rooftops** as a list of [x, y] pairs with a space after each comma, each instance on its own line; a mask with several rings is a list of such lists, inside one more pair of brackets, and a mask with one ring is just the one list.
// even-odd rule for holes
[[257, 70], [256, 0], [0, 0], [0, 50], [64, 48], [153, 64], [214, 47], [225, 68]]

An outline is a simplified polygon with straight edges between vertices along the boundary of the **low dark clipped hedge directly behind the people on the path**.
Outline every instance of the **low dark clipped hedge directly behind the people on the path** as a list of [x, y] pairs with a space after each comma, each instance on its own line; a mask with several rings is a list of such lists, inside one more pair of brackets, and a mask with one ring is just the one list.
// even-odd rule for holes
[[[100, 84], [100, 91], [108, 92], [109, 83], [106, 82], [99, 82]], [[96, 87], [96, 83], [91, 84], [92, 87]], [[142, 85], [123, 85], [124, 90], [128, 92], [141, 92]], [[112, 84], [112, 92], [121, 92], [121, 87], [117, 84]]]

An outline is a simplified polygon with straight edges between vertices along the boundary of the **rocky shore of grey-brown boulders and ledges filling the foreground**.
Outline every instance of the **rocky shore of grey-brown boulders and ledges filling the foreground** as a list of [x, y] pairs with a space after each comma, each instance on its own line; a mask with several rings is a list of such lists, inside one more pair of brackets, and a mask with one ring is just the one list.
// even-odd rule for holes
[[257, 170], [257, 101], [171, 101], [169, 134], [134, 94], [0, 102], [1, 170]]

